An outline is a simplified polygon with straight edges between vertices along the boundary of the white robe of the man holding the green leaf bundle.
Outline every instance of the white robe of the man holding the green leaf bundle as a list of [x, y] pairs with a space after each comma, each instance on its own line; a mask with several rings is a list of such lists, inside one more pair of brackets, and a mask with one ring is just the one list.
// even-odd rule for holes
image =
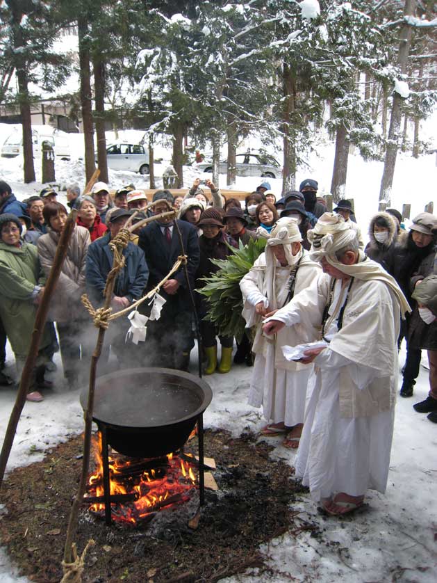
[[[276, 262], [276, 259], [273, 258]], [[253, 351], [256, 354], [254, 372], [249, 392], [249, 405], [263, 406], [266, 420], [274, 423], [283, 422], [286, 426], [294, 426], [304, 422], [306, 386], [313, 367], [287, 362], [283, 358], [281, 346], [295, 346], [302, 342], [313, 340], [315, 329], [302, 327], [285, 328], [276, 341], [267, 340], [262, 335], [261, 318], [256, 315], [255, 306], [264, 301], [265, 306], [274, 309], [286, 301], [287, 282], [291, 271], [290, 266], [281, 267], [276, 262], [273, 282], [268, 281], [265, 253], [261, 254], [254, 267], [242, 278], [240, 287], [245, 302], [242, 312], [248, 326], [258, 325]], [[320, 266], [304, 255], [297, 269], [295, 295], [308, 287], [320, 273]], [[274, 298], [272, 298], [274, 295]]]

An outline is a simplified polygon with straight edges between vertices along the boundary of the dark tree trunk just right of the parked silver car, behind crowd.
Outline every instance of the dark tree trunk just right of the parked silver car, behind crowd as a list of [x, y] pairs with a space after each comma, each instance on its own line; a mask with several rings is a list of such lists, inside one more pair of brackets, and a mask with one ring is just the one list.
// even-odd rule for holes
[[296, 142], [292, 115], [296, 111], [296, 78], [290, 67], [283, 64], [283, 175], [282, 194], [296, 187]]

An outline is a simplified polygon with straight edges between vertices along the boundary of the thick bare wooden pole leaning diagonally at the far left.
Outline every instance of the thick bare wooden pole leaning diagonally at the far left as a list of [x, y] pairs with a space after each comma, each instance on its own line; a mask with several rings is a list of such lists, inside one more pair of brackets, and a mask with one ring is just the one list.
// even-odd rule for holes
[[31, 378], [33, 374], [33, 369], [35, 368], [36, 358], [38, 356], [38, 349], [40, 346], [40, 340], [42, 332], [44, 330], [44, 324], [47, 319], [47, 312], [50, 308], [50, 300], [53, 292], [56, 288], [56, 283], [58, 282], [60, 270], [62, 269], [65, 255], [67, 254], [67, 249], [69, 246], [69, 240], [72, 237], [74, 230], [74, 225], [76, 225], [77, 211], [72, 211], [65, 223], [64, 230], [60, 235], [58, 246], [56, 248], [56, 254], [53, 259], [53, 266], [51, 268], [49, 278], [44, 287], [44, 293], [42, 294], [42, 299], [40, 305], [38, 305], [38, 310], [35, 315], [35, 324], [33, 326], [31, 346], [28, 351], [26, 362], [24, 364], [24, 369], [22, 372], [22, 378], [19, 383], [19, 389], [17, 392], [17, 398], [15, 399], [15, 404], [12, 412], [10, 413], [10, 419], [8, 423], [8, 429], [6, 429], [5, 439], [3, 441], [3, 447], [0, 453], [0, 488], [3, 484], [3, 477], [6, 470], [6, 464], [8, 463], [10, 450], [12, 449], [15, 432], [17, 431], [17, 426], [19, 422], [19, 417], [21, 417], [24, 404], [26, 403], [26, 394], [28, 393], [29, 385], [31, 384]]

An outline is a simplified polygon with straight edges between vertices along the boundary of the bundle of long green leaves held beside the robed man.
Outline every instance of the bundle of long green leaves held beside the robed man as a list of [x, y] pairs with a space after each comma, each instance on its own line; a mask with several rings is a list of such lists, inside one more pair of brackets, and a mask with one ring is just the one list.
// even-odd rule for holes
[[254, 262], [265, 248], [267, 239], [250, 239], [244, 246], [233, 250], [233, 255], [227, 259], [211, 259], [220, 269], [208, 278], [206, 285], [197, 289], [199, 294], [206, 296], [209, 309], [205, 317], [217, 326], [219, 335], [235, 336], [241, 342], [246, 321], [242, 317], [242, 295], [240, 280], [252, 268]]

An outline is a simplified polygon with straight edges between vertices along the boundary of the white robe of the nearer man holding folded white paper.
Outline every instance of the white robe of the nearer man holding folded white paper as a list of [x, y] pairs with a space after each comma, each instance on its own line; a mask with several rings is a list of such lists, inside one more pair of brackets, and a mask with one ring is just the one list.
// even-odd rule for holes
[[[327, 275], [321, 275], [311, 289], [279, 310], [274, 319], [288, 325], [306, 318], [320, 321], [330, 281]], [[329, 310], [333, 318], [327, 320], [325, 330], [331, 344], [314, 360], [313, 390], [295, 464], [296, 476], [309, 486], [314, 500], [337, 492], [360, 496], [368, 488], [384, 493], [390, 463], [399, 303], [384, 282], [354, 280], [343, 327], [338, 330], [339, 308], [347, 294], [347, 288], [340, 288], [337, 280]], [[372, 383], [383, 381], [390, 399], [383, 406], [372, 404], [373, 409], [365, 409], [363, 415], [345, 416], [340, 406], [345, 399], [340, 396], [340, 375], [345, 371], [355, 392], [368, 392]]]

